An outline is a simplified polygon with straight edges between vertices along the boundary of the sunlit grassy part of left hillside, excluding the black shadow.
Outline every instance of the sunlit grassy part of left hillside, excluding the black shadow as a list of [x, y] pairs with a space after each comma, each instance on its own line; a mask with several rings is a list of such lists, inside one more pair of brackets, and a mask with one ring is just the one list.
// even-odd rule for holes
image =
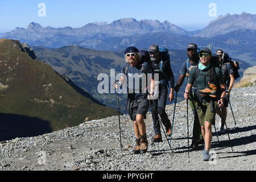
[[0, 40], [0, 112], [38, 117], [53, 130], [117, 111], [81, 96], [48, 64], [32, 60], [13, 40]]

